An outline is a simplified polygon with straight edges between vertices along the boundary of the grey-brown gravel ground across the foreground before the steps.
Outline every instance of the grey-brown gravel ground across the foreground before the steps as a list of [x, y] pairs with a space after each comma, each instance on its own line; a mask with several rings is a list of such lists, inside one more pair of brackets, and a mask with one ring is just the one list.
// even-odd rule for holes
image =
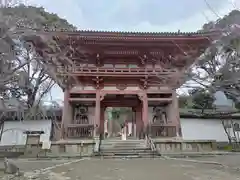
[[[232, 167], [238, 167], [238, 158], [240, 160], [240, 156], [219, 156], [198, 158], [196, 161], [226, 161], [230, 164], [234, 159]], [[14, 178], [18, 180], [29, 179], [30, 176], [40, 180], [240, 180], [238, 171], [230, 171], [220, 165], [188, 162], [185, 159], [17, 160], [17, 164], [23, 171], [28, 171], [25, 173], [28, 178]], [[29, 172], [41, 168], [45, 169]]]

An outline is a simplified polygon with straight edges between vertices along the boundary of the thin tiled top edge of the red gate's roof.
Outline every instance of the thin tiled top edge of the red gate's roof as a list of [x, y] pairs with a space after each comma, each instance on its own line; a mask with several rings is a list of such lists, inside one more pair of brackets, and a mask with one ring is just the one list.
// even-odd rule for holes
[[129, 31], [95, 31], [95, 30], [78, 30], [78, 31], [44, 31], [42, 35], [59, 36], [63, 38], [68, 36], [78, 39], [95, 39], [95, 40], [187, 40], [194, 39], [195, 41], [205, 39], [212, 41], [217, 37], [220, 31], [201, 31], [201, 32], [129, 32]]

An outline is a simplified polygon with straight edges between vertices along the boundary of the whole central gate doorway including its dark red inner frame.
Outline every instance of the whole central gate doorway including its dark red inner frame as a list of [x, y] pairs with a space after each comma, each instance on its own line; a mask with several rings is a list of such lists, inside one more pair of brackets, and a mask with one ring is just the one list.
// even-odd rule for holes
[[137, 94], [107, 94], [101, 107], [100, 132], [105, 138], [139, 137], [143, 123], [142, 102]]

